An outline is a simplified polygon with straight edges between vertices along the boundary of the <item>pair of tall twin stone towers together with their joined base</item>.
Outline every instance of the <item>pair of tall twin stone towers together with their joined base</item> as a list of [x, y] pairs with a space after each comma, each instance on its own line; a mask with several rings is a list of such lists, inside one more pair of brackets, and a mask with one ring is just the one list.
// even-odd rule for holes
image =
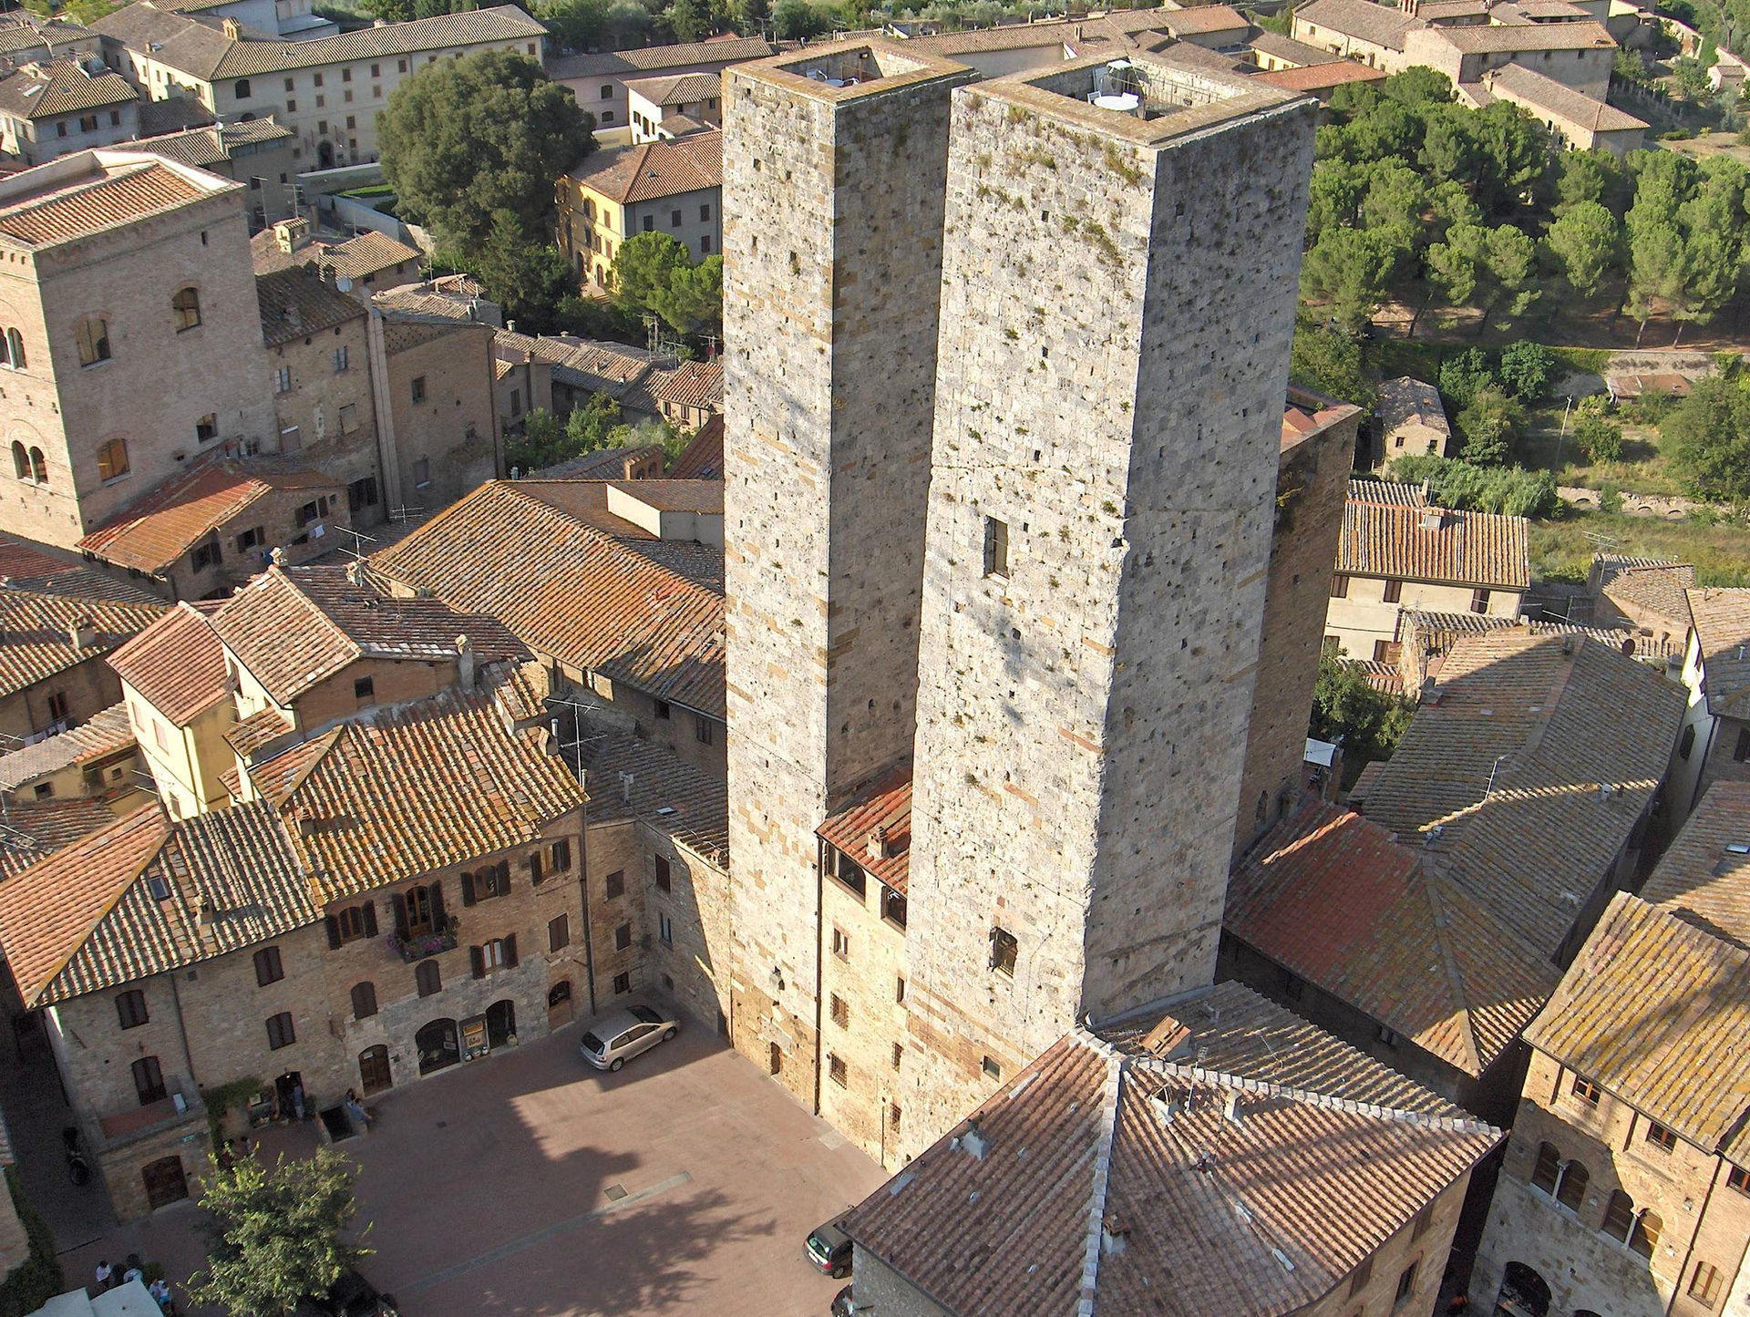
[[[903, 42], [723, 94], [732, 1037], [894, 1165], [1213, 979], [1318, 107]], [[861, 927], [816, 829], [906, 764]]]

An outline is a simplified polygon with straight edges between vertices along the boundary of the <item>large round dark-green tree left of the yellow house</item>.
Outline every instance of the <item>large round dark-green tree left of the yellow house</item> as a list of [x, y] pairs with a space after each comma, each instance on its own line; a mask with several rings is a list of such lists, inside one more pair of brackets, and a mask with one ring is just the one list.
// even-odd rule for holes
[[425, 65], [388, 96], [376, 133], [404, 213], [474, 255], [497, 212], [546, 233], [553, 180], [593, 147], [593, 117], [532, 59], [486, 51]]

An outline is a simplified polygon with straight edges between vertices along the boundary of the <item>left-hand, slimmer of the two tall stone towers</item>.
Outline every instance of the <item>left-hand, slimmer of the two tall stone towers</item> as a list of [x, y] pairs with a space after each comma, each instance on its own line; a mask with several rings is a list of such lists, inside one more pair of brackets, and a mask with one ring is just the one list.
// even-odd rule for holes
[[816, 1100], [828, 801], [912, 752], [948, 96], [882, 44], [724, 72], [735, 1046]]

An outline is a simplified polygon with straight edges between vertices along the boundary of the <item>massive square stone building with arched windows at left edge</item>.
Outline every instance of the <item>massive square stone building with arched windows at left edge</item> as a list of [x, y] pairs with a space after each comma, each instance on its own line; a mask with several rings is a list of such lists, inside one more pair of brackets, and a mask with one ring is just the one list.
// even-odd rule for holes
[[206, 453], [271, 451], [243, 192], [114, 150], [0, 180], [16, 532], [77, 547]]

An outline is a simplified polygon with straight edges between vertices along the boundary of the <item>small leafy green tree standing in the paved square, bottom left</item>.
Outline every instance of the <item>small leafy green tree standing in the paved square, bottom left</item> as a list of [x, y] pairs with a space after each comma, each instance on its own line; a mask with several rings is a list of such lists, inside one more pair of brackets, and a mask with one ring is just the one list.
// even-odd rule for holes
[[214, 1165], [201, 1195], [212, 1214], [206, 1268], [189, 1279], [189, 1296], [234, 1317], [285, 1317], [299, 1300], [324, 1294], [369, 1251], [346, 1244], [357, 1205], [357, 1172], [332, 1147], [270, 1170], [252, 1156]]

